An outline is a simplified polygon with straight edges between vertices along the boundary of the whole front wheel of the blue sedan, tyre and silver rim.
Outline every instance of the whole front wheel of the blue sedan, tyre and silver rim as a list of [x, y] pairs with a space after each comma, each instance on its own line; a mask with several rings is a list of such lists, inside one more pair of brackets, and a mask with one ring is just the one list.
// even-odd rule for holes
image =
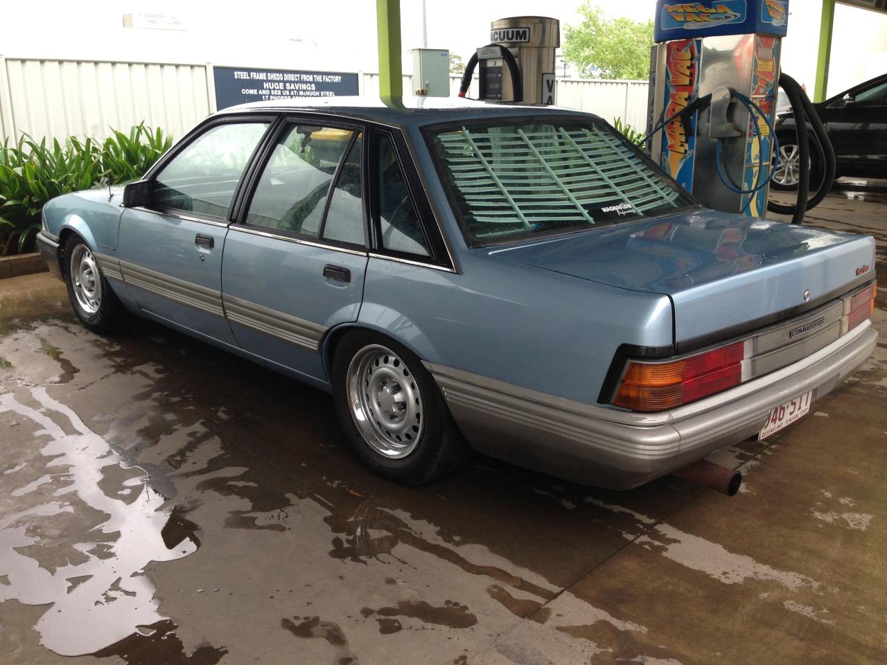
[[98, 268], [95, 254], [80, 237], [71, 235], [62, 256], [67, 297], [77, 318], [92, 332], [113, 330], [123, 317], [123, 306]]

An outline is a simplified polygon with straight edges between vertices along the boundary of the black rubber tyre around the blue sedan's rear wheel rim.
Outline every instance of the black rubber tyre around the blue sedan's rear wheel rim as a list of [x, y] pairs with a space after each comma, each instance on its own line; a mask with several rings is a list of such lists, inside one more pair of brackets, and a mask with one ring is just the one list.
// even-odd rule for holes
[[[379, 348], [392, 351], [395, 354], [392, 357], [398, 361], [402, 359], [398, 371], [404, 372], [406, 375], [404, 380], [410, 381], [412, 387], [418, 389], [417, 395], [420, 397], [420, 402], [419, 400], [416, 402], [421, 403], [420, 433], [415, 440], [410, 439], [409, 445], [412, 449], [400, 458], [387, 457], [374, 447], [373, 436], [379, 436], [383, 442], [385, 439], [381, 434], [373, 434], [373, 430], [378, 431], [378, 429], [373, 427], [372, 423], [365, 423], [363, 430], [358, 426], [355, 412], [361, 410], [360, 397], [359, 395], [354, 397], [357, 404], [352, 406], [352, 399], [349, 396], [352, 395], [349, 378], [365, 376], [357, 373], [352, 365], [359, 366], [361, 359], [368, 354], [383, 354], [384, 351], [379, 351]], [[388, 362], [387, 358], [385, 362]], [[376, 366], [379, 367], [378, 364]], [[394, 366], [391, 365], [389, 370], [393, 372]], [[369, 371], [372, 371], [372, 368], [367, 370]], [[356, 380], [355, 386], [359, 384], [360, 381]], [[369, 394], [365, 395], [369, 399]], [[365, 465], [390, 481], [402, 485], [420, 485], [450, 473], [464, 465], [471, 456], [471, 449], [459, 433], [459, 428], [452, 419], [435, 379], [412, 351], [381, 334], [370, 331], [350, 332], [339, 342], [333, 356], [333, 397], [339, 423], [352, 450]], [[379, 426], [382, 427], [381, 424]], [[407, 436], [408, 434], [404, 434], [404, 437]], [[393, 440], [391, 443], [396, 445]], [[404, 446], [408, 444], [405, 438], [403, 443]]]

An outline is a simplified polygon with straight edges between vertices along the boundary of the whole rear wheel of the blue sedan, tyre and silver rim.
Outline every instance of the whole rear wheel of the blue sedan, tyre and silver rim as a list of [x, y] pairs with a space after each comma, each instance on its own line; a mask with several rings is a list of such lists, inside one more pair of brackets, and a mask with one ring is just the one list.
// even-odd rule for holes
[[461, 465], [467, 443], [440, 389], [409, 349], [352, 333], [333, 359], [336, 412], [357, 456], [376, 473], [419, 485]]

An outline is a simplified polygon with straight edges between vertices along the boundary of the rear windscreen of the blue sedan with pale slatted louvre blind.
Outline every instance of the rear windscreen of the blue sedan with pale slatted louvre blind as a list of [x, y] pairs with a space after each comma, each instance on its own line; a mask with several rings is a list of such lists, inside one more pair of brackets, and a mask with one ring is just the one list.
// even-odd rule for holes
[[473, 246], [693, 205], [603, 121], [470, 123], [434, 129], [430, 143]]

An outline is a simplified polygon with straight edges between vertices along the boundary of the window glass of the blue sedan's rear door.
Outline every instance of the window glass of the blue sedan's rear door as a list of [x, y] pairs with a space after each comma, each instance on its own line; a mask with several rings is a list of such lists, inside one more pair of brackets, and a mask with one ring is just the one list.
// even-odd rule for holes
[[[271, 153], [249, 204], [246, 223], [319, 238], [326, 197], [333, 186], [336, 168], [354, 135], [350, 129], [294, 125]], [[344, 164], [343, 168], [348, 170], [350, 182], [356, 167], [359, 184], [359, 156], [357, 160], [357, 165]], [[356, 223], [363, 243], [363, 216], [359, 206], [358, 214], [361, 216]], [[331, 229], [339, 231], [341, 222], [334, 223]]]

